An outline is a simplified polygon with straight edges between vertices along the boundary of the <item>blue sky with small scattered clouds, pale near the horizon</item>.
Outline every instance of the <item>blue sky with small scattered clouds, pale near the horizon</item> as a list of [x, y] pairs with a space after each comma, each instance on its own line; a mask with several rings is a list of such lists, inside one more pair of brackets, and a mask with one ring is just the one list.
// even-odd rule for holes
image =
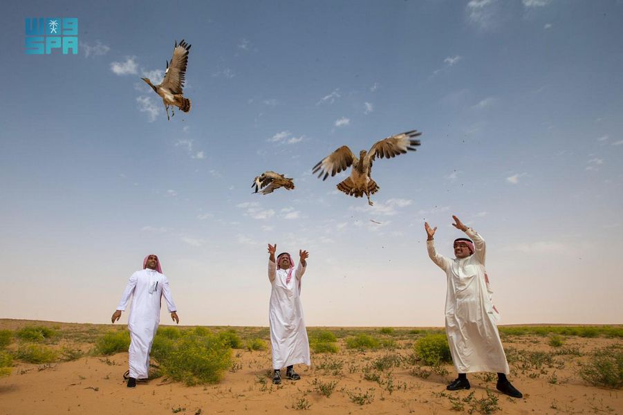
[[[50, 16], [79, 19], [79, 55], [24, 53], [24, 19]], [[452, 255], [456, 214], [487, 241], [503, 324], [622, 323], [621, 1], [20, 1], [4, 17], [0, 317], [106, 322], [154, 252], [183, 324], [268, 325], [277, 243], [310, 252], [309, 325], [440, 326], [423, 223]], [[192, 110], [167, 122], [140, 77], [180, 39]], [[311, 174], [409, 129], [422, 145], [375, 162], [373, 207]], [[296, 189], [251, 194], [266, 170]]]

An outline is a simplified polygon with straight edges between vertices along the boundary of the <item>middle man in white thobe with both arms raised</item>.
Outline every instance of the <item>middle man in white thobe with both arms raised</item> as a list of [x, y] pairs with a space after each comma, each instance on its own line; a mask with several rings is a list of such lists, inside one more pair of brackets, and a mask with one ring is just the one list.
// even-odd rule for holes
[[275, 374], [272, 382], [281, 383], [281, 368], [287, 367], [286, 379], [299, 380], [294, 365], [310, 365], [309, 339], [305, 328], [303, 306], [301, 306], [301, 277], [307, 266], [309, 253], [299, 250], [299, 266], [292, 276], [294, 261], [288, 252], [283, 252], [275, 261], [277, 244], [268, 244], [268, 279], [272, 285], [268, 321], [270, 322], [270, 344], [272, 369]]

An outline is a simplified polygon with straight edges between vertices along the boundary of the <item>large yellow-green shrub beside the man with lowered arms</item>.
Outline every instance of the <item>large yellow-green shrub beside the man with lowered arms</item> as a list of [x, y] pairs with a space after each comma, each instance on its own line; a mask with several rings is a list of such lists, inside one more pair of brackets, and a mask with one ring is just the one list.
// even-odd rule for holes
[[189, 331], [178, 340], [161, 339], [158, 347], [151, 349], [160, 373], [186, 385], [216, 383], [232, 366], [230, 344], [213, 333]]

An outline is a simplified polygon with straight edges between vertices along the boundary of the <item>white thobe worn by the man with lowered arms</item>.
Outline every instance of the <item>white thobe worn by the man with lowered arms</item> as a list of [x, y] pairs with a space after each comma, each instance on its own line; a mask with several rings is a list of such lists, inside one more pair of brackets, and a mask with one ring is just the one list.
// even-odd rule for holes
[[132, 274], [117, 306], [118, 310], [125, 311], [130, 295], [133, 295], [133, 299], [130, 317], [128, 318], [130, 331], [129, 376], [136, 379], [146, 379], [149, 374], [149, 352], [160, 322], [161, 297], [165, 297], [169, 313], [177, 311], [177, 308], [173, 302], [171, 288], [169, 288], [169, 279], [149, 268]]

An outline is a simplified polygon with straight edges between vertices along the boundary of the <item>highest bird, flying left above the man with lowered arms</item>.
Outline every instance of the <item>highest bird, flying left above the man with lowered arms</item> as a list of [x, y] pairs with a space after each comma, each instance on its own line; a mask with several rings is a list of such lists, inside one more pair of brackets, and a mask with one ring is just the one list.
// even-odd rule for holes
[[[162, 103], [165, 104], [165, 111], [167, 111], [167, 120], [171, 119], [169, 118], [169, 106], [178, 107], [184, 112], [190, 111], [190, 100], [184, 98], [182, 92], [186, 80], [186, 66], [188, 64], [190, 46], [184, 42], [184, 39], [182, 39], [180, 44], [177, 41], [175, 42], [171, 62], [167, 62], [165, 77], [159, 85], [152, 84], [149, 78], [140, 78], [147, 82], [151, 89], [162, 98]], [[175, 115], [175, 111], [172, 108], [171, 113], [171, 117]]]

